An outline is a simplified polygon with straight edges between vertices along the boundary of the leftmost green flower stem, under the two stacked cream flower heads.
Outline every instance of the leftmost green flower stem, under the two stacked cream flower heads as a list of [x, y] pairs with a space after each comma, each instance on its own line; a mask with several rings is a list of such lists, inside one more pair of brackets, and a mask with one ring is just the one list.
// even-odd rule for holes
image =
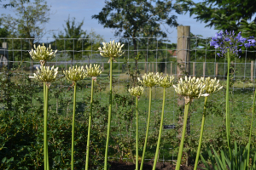
[[49, 170], [47, 115], [48, 115], [48, 88], [46, 87], [46, 83], [44, 82], [44, 170]]

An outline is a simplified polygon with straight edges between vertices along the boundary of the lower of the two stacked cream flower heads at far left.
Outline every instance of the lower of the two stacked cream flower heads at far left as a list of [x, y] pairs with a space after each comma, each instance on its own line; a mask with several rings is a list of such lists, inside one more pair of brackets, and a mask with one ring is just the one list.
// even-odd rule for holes
[[40, 66], [40, 69], [37, 67], [38, 73], [34, 73], [34, 77], [39, 82], [54, 82], [57, 74], [58, 74], [58, 67], [52, 66], [49, 69], [49, 66]]

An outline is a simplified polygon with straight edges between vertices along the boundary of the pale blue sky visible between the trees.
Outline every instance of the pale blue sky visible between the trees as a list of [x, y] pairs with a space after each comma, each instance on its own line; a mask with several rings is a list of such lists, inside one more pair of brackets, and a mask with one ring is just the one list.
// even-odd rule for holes
[[[200, 2], [201, 0], [195, 0], [195, 2]], [[94, 14], [99, 14], [102, 8], [105, 6], [105, 0], [46, 0], [50, 8], [50, 20], [49, 23], [45, 24], [45, 29], [47, 31], [54, 30], [47, 33], [44, 38], [52, 38], [53, 33], [58, 34], [59, 31], [63, 31], [63, 26], [65, 20], [68, 16], [70, 18], [75, 17], [76, 21], [81, 22], [84, 19], [83, 30], [90, 32], [91, 30], [96, 31], [97, 34], [102, 35], [106, 42], [110, 39], [114, 39], [114, 31], [109, 28], [104, 28], [101, 24], [98, 23], [98, 20], [91, 19], [91, 16]], [[2, 2], [4, 3], [4, 1]], [[0, 14], [12, 14], [15, 16], [15, 11], [12, 8], [0, 8]], [[212, 37], [214, 36], [216, 30], [209, 27], [205, 27], [207, 24], [201, 23], [193, 19], [195, 16], [189, 17], [187, 14], [172, 14], [177, 15], [177, 23], [183, 26], [190, 26], [190, 31], [195, 35], [202, 35], [203, 37]], [[167, 37], [171, 37], [172, 42], [177, 40], [177, 29], [175, 27], [169, 27], [168, 31], [171, 34], [167, 33]], [[161, 26], [161, 29], [165, 31], [165, 27]]]

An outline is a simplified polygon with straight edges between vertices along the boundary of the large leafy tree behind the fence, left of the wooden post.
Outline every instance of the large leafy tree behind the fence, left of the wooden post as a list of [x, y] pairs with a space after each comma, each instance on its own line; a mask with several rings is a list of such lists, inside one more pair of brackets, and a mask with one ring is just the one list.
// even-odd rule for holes
[[102, 11], [92, 19], [104, 27], [113, 28], [115, 36], [131, 38], [135, 57], [137, 42], [143, 41], [137, 37], [166, 37], [167, 30], [162, 31], [160, 25], [178, 25], [177, 16], [171, 12], [175, 10], [179, 14], [180, 10], [170, 0], [108, 0], [105, 3]]

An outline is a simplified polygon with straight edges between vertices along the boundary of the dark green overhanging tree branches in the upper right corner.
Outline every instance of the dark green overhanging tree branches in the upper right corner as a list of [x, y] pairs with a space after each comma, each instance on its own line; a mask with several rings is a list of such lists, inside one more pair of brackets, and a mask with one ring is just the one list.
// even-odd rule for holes
[[[256, 22], [254, 0], [205, 0], [195, 3], [193, 0], [177, 0], [183, 11], [195, 14], [195, 19], [217, 30], [241, 31], [241, 20]], [[249, 36], [249, 35], [248, 35]]]

